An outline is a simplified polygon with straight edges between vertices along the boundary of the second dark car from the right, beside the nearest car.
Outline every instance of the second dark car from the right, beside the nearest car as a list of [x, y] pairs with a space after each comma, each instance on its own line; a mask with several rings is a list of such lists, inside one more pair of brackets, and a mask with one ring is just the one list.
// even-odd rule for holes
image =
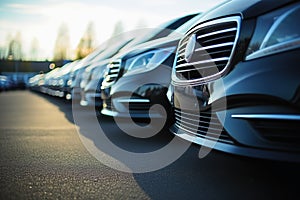
[[160, 104], [168, 111], [171, 108], [166, 93], [171, 80], [175, 50], [180, 38], [200, 14], [185, 22], [167, 37], [152, 40], [115, 57], [108, 65], [102, 83], [104, 115], [132, 118], [165, 118]]

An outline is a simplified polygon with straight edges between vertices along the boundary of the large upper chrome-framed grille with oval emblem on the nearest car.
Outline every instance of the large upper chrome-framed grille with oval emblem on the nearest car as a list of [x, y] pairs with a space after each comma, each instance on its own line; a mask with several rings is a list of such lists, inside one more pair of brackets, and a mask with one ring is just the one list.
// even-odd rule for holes
[[239, 27], [240, 17], [229, 17], [200, 24], [189, 31], [178, 47], [173, 81], [205, 81], [222, 75], [230, 64]]

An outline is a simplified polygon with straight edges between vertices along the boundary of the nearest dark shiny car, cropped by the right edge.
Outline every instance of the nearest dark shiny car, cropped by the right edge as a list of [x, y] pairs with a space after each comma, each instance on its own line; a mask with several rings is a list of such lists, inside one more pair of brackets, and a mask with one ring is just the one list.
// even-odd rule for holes
[[177, 49], [171, 131], [199, 145], [300, 161], [299, 1], [227, 1]]

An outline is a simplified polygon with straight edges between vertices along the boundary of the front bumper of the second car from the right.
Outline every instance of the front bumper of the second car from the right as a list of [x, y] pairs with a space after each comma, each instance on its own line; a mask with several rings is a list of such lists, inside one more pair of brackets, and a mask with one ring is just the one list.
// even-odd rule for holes
[[146, 73], [121, 77], [102, 89], [101, 113], [114, 117], [165, 118], [171, 111], [166, 97], [170, 76], [170, 67], [160, 66]]

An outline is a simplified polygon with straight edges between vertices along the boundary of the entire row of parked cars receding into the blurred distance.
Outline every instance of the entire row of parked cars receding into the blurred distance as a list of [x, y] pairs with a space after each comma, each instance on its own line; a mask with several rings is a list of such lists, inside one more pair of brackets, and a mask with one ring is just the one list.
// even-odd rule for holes
[[30, 86], [103, 115], [167, 117], [178, 137], [220, 151], [299, 162], [299, 17], [299, 1], [225, 1], [113, 38]]

